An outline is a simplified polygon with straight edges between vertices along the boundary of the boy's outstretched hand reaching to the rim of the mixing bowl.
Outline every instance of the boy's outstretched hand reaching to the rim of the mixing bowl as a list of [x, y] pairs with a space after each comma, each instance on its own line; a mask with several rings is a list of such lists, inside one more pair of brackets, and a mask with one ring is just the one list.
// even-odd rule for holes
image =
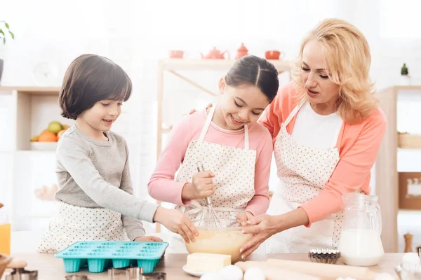
[[154, 222], [165, 225], [168, 230], [178, 233], [185, 239], [186, 243], [196, 241], [194, 237], [199, 235], [199, 231], [190, 221], [189, 217], [175, 209], [158, 207], [154, 215]]

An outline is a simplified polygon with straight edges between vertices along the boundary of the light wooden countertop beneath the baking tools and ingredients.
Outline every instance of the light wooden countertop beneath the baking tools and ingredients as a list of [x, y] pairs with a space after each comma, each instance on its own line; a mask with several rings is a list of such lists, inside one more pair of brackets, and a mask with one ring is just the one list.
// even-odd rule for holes
[[[399, 265], [401, 262], [403, 253], [386, 253], [379, 265], [371, 267], [373, 272], [385, 272], [392, 274], [395, 279], [398, 279], [394, 272], [394, 267]], [[65, 279], [66, 275], [62, 259], [54, 258], [54, 254], [41, 254], [41, 253], [21, 253], [13, 255], [13, 258], [25, 260], [28, 265], [27, 270], [38, 270], [39, 280], [62, 280]], [[187, 255], [186, 254], [166, 254], [163, 256], [158, 265], [156, 265], [154, 272], [166, 272], [167, 280], [189, 280], [196, 279], [198, 277], [190, 276], [182, 270], [182, 266], [185, 265]], [[267, 255], [252, 255], [247, 260], [266, 260], [267, 258], [279, 258], [283, 260], [302, 260], [309, 261], [307, 254], [267, 254]], [[342, 265], [343, 262], [339, 260], [338, 265]], [[5, 272], [6, 274], [7, 272]], [[90, 274], [87, 270], [83, 270], [76, 274], [86, 274], [89, 279], [102, 279], [106, 280], [107, 272], [100, 274]], [[4, 276], [1, 278], [4, 279]]]

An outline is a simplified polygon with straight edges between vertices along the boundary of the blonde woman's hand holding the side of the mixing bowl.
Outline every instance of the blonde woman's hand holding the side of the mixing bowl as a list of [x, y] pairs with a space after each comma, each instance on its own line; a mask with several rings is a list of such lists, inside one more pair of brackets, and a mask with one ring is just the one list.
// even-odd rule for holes
[[248, 220], [248, 226], [243, 228], [244, 234], [252, 234], [250, 240], [246, 241], [240, 248], [241, 258], [247, 258], [260, 244], [272, 235], [279, 232], [279, 216], [262, 214]]

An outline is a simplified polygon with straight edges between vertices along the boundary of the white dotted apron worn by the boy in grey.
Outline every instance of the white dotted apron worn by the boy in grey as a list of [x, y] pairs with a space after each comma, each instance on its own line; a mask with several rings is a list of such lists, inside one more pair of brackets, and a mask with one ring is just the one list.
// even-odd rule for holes
[[103, 208], [76, 207], [58, 202], [58, 214], [51, 218], [41, 237], [38, 253], [55, 253], [76, 241], [128, 241], [121, 214]]

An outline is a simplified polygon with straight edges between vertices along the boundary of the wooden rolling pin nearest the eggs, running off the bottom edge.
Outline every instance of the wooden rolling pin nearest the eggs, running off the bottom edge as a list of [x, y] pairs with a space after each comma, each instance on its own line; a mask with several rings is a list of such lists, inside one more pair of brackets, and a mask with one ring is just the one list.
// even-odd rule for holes
[[248, 260], [246, 262], [236, 262], [235, 265], [240, 267], [243, 272], [246, 272], [249, 267], [259, 267], [265, 272], [266, 280], [321, 280], [319, 277], [276, 267], [267, 262]]

